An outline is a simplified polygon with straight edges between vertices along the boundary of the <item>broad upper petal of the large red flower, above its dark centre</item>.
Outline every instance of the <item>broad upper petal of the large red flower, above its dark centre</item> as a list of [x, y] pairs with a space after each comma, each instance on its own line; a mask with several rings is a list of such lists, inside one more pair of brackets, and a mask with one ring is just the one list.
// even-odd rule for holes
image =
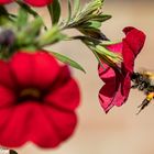
[[59, 66], [55, 58], [45, 53], [16, 53], [10, 62], [18, 82], [22, 87], [46, 88], [56, 78]]

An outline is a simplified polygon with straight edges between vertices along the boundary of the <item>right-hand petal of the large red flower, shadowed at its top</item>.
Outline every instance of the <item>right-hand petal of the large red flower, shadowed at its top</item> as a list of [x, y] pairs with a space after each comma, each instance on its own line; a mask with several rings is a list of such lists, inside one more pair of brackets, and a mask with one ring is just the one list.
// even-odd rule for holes
[[64, 66], [44, 101], [61, 109], [74, 110], [78, 107], [79, 100], [78, 85], [70, 77], [68, 68]]

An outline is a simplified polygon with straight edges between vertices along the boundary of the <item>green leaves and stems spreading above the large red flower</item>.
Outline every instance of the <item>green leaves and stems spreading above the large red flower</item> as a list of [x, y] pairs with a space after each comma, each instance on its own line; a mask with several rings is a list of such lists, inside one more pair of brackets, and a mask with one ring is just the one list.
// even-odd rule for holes
[[[122, 61], [120, 55], [106, 48], [106, 45], [112, 43], [101, 32], [100, 28], [102, 22], [109, 20], [111, 15], [102, 12], [103, 0], [91, 0], [84, 7], [81, 7], [80, 0], [67, 0], [68, 16], [62, 22], [59, 22], [62, 1], [54, 0], [53, 3], [47, 6], [52, 20], [50, 29], [34, 9], [21, 0], [15, 0], [15, 2], [20, 6], [18, 14], [11, 14], [4, 7], [0, 6], [0, 26], [3, 31], [12, 30], [14, 34], [14, 42], [10, 48], [8, 47], [9, 50], [0, 44], [0, 47], [4, 47], [4, 51], [10, 52], [12, 50], [14, 52], [24, 48], [33, 52], [61, 41], [78, 38], [91, 50], [100, 64], [103, 61], [113, 66]], [[69, 37], [63, 33], [64, 30], [68, 29], [76, 29], [81, 35]], [[85, 73], [85, 69], [72, 58], [54, 52], [52, 54], [61, 62]]]

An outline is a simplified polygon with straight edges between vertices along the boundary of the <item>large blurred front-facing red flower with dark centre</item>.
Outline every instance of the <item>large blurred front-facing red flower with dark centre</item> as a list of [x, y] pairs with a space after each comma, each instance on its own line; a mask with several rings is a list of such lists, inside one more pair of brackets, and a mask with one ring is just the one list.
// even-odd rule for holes
[[19, 52], [0, 73], [1, 145], [55, 147], [72, 135], [79, 89], [67, 66], [46, 52]]

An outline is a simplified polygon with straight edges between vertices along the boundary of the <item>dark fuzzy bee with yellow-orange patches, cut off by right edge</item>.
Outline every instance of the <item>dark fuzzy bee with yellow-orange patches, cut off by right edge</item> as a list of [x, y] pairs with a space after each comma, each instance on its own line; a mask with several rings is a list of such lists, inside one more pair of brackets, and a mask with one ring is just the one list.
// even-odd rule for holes
[[146, 96], [138, 107], [140, 110], [136, 114], [139, 114], [154, 99], [154, 73], [147, 70], [133, 73], [132, 81], [132, 88], [143, 91]]

